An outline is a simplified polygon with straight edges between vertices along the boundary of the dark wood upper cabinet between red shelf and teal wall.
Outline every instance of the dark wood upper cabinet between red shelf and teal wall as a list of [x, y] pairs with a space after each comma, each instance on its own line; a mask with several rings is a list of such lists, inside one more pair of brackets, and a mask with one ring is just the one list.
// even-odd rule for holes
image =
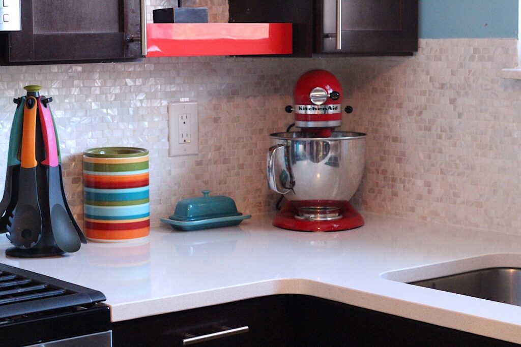
[[418, 0], [229, 0], [229, 9], [230, 22], [293, 23], [294, 57], [418, 50]]

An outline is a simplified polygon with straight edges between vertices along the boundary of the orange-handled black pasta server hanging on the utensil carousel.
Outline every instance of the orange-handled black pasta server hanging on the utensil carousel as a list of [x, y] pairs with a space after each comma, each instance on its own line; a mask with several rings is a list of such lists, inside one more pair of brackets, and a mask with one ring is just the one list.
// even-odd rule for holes
[[42, 237], [42, 213], [36, 183], [36, 99], [26, 99], [23, 110], [19, 196], [7, 226], [7, 238], [16, 247], [31, 248]]

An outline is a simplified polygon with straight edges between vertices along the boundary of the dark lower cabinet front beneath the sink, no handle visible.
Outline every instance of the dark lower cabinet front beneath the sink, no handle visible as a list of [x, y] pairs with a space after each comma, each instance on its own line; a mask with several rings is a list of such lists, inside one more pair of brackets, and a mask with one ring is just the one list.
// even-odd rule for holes
[[293, 295], [292, 346], [487, 346], [515, 343], [362, 309], [326, 299]]

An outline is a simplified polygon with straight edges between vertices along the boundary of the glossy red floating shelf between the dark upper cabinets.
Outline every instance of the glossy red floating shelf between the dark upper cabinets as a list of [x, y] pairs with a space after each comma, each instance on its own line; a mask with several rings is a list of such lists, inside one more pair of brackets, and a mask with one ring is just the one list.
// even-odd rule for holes
[[291, 23], [146, 24], [147, 57], [291, 54]]

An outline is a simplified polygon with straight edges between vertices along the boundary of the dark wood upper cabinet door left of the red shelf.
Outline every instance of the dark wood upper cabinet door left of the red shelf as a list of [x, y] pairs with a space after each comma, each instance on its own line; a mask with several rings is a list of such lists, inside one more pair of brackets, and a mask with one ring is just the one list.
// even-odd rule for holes
[[139, 0], [23, 0], [22, 31], [7, 34], [8, 63], [141, 57]]

